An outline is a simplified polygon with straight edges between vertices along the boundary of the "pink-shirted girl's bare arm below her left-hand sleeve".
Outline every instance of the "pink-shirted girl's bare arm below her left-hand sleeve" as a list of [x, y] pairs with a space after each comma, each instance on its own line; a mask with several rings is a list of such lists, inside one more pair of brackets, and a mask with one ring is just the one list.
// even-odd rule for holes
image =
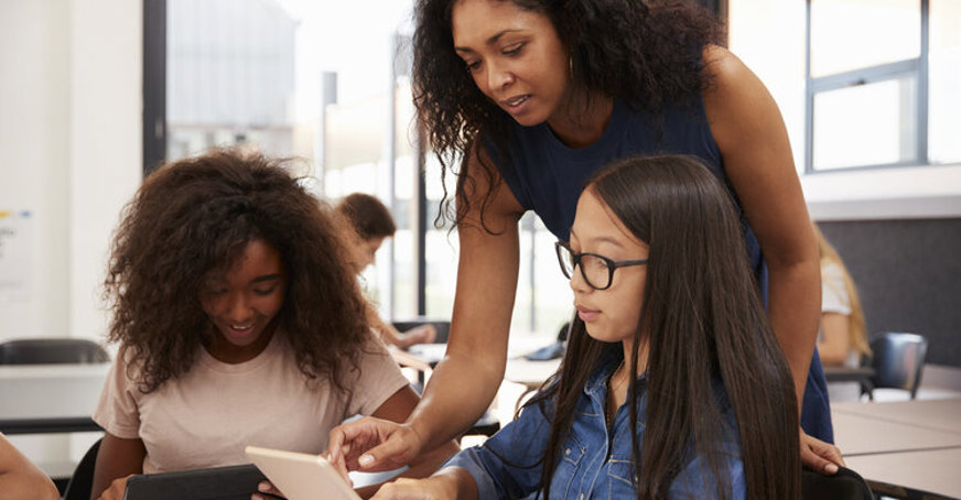
[[127, 477], [143, 472], [147, 448], [141, 439], [125, 439], [110, 433], [104, 434], [97, 466], [94, 468], [94, 487], [90, 498], [117, 498], [123, 496]]

